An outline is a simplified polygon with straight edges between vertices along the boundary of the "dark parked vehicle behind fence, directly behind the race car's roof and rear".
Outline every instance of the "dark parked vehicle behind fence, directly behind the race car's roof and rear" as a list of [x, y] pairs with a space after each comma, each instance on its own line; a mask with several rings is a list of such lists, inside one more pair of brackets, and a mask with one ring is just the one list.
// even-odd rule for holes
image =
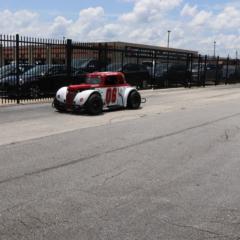
[[146, 66], [136, 63], [112, 63], [107, 66], [107, 71], [122, 72], [127, 83], [138, 88], [146, 88], [150, 82], [150, 74]]

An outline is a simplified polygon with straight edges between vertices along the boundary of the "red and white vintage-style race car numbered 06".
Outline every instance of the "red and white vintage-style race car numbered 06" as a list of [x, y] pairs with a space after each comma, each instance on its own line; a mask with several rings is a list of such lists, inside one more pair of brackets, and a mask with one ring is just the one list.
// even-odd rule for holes
[[91, 115], [104, 108], [138, 109], [140, 105], [139, 92], [120, 72], [89, 73], [84, 84], [60, 88], [53, 102], [58, 111], [86, 110]]

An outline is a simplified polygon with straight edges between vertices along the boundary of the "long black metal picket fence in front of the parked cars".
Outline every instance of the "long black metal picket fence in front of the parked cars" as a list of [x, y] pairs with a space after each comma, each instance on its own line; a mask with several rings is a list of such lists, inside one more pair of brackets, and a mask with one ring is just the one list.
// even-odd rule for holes
[[240, 82], [238, 59], [128, 45], [0, 35], [0, 103], [51, 98], [94, 71], [121, 71], [138, 88]]

